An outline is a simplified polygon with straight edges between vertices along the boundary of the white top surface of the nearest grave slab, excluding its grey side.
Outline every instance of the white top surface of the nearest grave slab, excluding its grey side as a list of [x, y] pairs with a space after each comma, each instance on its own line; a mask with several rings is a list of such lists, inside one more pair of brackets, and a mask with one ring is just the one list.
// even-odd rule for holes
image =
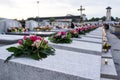
[[[16, 46], [16, 44], [9, 46]], [[8, 56], [10, 56], [11, 53], [6, 50], [7, 47], [8, 46], [0, 47], [0, 60], [5, 60]], [[32, 68], [45, 69], [53, 72], [55, 71], [72, 76], [87, 78], [90, 80], [100, 80], [101, 56], [83, 53], [78, 54], [77, 52], [56, 49], [54, 56], [49, 56], [48, 58], [40, 61], [29, 58], [14, 58], [10, 60], [10, 62], [19, 63], [21, 65], [29, 65]], [[0, 70], [1, 69], [2, 68], [0, 68]], [[34, 72], [30, 73], [34, 74]], [[27, 73], [24, 74], [27, 75]]]

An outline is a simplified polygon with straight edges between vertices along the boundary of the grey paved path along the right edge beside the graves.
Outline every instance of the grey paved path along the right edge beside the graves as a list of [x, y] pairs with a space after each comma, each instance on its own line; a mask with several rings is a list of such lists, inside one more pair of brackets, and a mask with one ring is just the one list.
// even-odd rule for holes
[[110, 31], [107, 31], [107, 37], [109, 43], [112, 45], [112, 56], [118, 74], [118, 80], [120, 80], [120, 39], [118, 39], [115, 35], [111, 34]]

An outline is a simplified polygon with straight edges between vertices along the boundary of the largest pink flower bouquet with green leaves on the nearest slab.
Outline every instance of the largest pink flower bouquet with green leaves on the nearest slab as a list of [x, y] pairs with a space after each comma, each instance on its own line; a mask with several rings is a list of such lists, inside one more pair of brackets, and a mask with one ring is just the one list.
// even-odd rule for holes
[[30, 57], [35, 60], [46, 58], [49, 55], [54, 55], [55, 49], [48, 45], [48, 41], [36, 35], [30, 37], [24, 36], [23, 40], [18, 41], [19, 46], [9, 47], [7, 50], [13, 52], [5, 62], [12, 57]]

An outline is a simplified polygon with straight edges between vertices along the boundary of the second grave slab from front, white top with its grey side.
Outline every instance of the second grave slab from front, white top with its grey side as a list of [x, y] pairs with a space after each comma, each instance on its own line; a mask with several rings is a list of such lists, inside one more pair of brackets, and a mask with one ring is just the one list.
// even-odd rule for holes
[[[45, 38], [48, 40], [48, 38]], [[102, 52], [102, 45], [96, 44], [96, 43], [90, 43], [90, 42], [83, 42], [83, 41], [75, 41], [73, 40], [70, 44], [56, 44], [52, 43], [48, 40], [49, 44], [55, 48], [59, 49], [65, 49], [70, 51], [76, 51], [76, 52], [85, 52], [89, 54], [96, 54], [101, 55]]]

